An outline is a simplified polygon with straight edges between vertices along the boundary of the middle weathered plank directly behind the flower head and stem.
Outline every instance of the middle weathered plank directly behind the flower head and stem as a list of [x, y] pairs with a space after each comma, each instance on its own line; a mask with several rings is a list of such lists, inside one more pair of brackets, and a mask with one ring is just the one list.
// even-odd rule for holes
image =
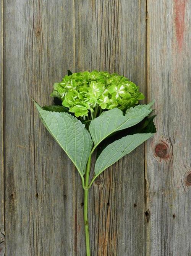
[[[75, 71], [106, 70], [145, 92], [145, 1], [75, 1]], [[85, 254], [83, 191], [76, 177], [75, 255]], [[89, 197], [92, 255], [144, 255], [144, 147], [97, 179]]]

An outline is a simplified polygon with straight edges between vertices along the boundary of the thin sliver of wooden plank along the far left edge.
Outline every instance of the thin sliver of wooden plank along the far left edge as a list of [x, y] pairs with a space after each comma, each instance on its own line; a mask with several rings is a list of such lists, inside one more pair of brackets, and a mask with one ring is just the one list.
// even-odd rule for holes
[[0, 1], [0, 256], [5, 255], [3, 162], [3, 1]]

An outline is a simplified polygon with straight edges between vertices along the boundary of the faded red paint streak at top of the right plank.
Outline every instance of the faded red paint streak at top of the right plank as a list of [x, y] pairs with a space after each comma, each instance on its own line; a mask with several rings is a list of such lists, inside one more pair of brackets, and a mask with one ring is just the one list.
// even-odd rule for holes
[[182, 49], [185, 30], [185, 7], [186, 0], [174, 0], [175, 5], [175, 26], [179, 50]]

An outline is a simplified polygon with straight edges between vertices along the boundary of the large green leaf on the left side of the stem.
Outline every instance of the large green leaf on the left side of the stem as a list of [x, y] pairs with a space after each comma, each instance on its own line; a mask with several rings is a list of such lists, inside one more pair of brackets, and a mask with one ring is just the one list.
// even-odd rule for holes
[[84, 175], [92, 140], [89, 132], [76, 117], [66, 112], [51, 112], [35, 105], [40, 117], [58, 144], [72, 160], [81, 175]]

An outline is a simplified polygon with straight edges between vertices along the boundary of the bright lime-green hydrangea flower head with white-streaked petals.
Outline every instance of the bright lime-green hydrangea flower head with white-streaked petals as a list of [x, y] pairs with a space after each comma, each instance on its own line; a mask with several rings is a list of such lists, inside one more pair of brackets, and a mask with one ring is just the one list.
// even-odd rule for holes
[[54, 84], [51, 96], [62, 100], [76, 117], [97, 116], [103, 109], [120, 108], [125, 111], [144, 99], [138, 86], [126, 77], [108, 72], [81, 72], [66, 75], [62, 82]]

